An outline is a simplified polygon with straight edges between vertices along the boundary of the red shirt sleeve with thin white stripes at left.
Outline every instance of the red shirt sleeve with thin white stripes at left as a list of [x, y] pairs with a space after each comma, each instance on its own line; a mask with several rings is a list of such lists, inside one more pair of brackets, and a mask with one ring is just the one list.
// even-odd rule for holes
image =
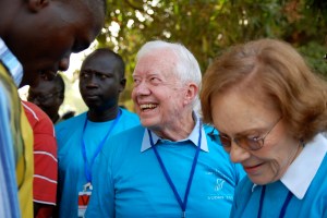
[[22, 102], [34, 133], [33, 201], [56, 205], [58, 160], [53, 123], [36, 105]]

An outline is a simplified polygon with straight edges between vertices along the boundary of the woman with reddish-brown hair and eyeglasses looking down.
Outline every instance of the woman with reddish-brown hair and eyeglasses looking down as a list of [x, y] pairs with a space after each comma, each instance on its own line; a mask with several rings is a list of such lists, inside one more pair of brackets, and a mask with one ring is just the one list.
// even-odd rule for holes
[[231, 48], [205, 73], [201, 100], [247, 173], [231, 217], [327, 217], [327, 82], [295, 49], [276, 39]]

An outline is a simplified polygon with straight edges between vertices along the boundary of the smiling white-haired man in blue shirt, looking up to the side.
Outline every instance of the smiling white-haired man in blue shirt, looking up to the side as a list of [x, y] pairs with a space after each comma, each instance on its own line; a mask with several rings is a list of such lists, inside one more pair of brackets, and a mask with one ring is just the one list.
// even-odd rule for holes
[[202, 75], [193, 55], [147, 43], [133, 78], [142, 125], [104, 147], [87, 217], [229, 217], [243, 171], [194, 112]]

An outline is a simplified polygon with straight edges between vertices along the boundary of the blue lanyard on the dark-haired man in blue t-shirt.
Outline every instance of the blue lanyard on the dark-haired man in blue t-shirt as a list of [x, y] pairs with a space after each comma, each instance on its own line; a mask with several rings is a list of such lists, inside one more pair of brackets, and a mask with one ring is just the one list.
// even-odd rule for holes
[[84, 159], [84, 173], [85, 173], [86, 180], [87, 180], [87, 182], [89, 184], [92, 183], [92, 166], [93, 166], [96, 157], [99, 155], [101, 148], [104, 147], [106, 140], [108, 138], [108, 136], [110, 135], [111, 131], [113, 130], [113, 128], [118, 123], [118, 120], [119, 120], [120, 116], [121, 116], [121, 111], [119, 109], [118, 110], [118, 114], [117, 114], [117, 117], [116, 117], [112, 125], [110, 126], [110, 129], [107, 132], [106, 136], [99, 143], [99, 145], [98, 145], [98, 147], [97, 147], [94, 156], [90, 159], [89, 165], [88, 165], [87, 157], [86, 157], [86, 146], [85, 146], [85, 141], [84, 141], [84, 133], [85, 133], [85, 129], [86, 129], [86, 125], [87, 125], [87, 116], [86, 116], [85, 123], [84, 123], [84, 126], [83, 126], [83, 132], [82, 132], [82, 138], [83, 138], [82, 140], [82, 154], [83, 154], [83, 159]]

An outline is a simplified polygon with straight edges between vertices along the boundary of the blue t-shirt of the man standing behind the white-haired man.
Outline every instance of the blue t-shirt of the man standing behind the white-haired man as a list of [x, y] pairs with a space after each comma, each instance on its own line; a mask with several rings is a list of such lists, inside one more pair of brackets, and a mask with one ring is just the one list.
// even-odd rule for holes
[[[140, 124], [140, 119], [135, 113], [124, 109], [121, 109], [121, 117], [110, 135], [118, 134]], [[82, 134], [85, 119], [86, 112], [56, 125], [59, 161], [58, 206], [60, 217], [77, 217], [78, 192], [83, 191], [83, 185], [87, 183], [82, 154]], [[114, 120], [107, 122], [87, 121], [83, 137], [88, 161], [96, 153], [100, 142], [113, 122]], [[106, 143], [110, 144], [111, 142], [107, 138]], [[94, 174], [94, 166], [92, 174]]]

